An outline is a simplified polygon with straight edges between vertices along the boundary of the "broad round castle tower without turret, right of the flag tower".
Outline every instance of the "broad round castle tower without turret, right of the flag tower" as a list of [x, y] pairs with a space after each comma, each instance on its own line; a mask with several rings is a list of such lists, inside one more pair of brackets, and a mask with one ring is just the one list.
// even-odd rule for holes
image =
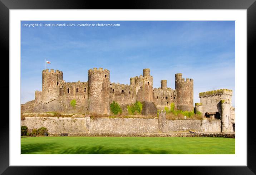
[[93, 68], [88, 71], [88, 110], [109, 114], [109, 70]]

